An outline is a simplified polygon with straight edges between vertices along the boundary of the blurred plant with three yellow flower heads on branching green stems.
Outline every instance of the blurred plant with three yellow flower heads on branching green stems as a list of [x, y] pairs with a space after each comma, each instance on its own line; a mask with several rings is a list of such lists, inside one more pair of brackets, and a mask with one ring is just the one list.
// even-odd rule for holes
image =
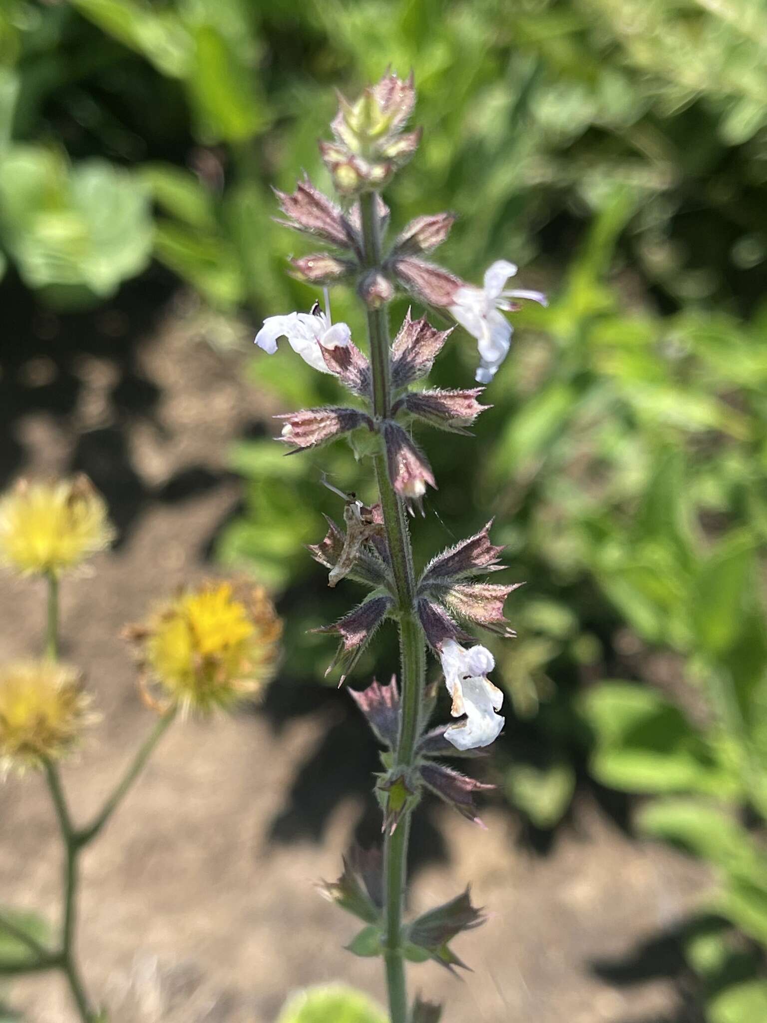
[[0, 781], [11, 771], [43, 774], [64, 851], [57, 935], [35, 914], [0, 907], [0, 977], [60, 971], [83, 1023], [107, 1017], [88, 993], [78, 963], [81, 853], [102, 833], [179, 713], [230, 709], [263, 688], [276, 666], [281, 632], [263, 588], [220, 580], [181, 589], [146, 622], [129, 626], [139, 692], [156, 721], [103, 805], [78, 824], [59, 762], [98, 716], [82, 672], [59, 660], [59, 584], [114, 536], [106, 505], [84, 476], [20, 480], [0, 498], [0, 562], [17, 575], [44, 580], [47, 589], [44, 656], [0, 665]]

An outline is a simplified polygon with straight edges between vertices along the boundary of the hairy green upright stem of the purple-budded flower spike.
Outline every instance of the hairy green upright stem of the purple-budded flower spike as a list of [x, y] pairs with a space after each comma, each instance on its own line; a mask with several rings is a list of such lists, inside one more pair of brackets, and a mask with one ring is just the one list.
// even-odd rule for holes
[[[380, 266], [381, 262], [380, 224], [376, 210], [376, 195], [373, 192], [363, 194], [360, 197], [360, 208], [364, 261], [368, 269], [374, 270]], [[377, 309], [368, 308], [367, 324], [372, 373], [373, 414], [376, 422], [380, 422], [389, 417], [392, 408], [389, 317], [386, 306]], [[375, 458], [375, 476], [392, 559], [400, 618], [402, 718], [395, 762], [397, 768], [406, 771], [413, 764], [415, 745], [420, 731], [420, 705], [425, 671], [424, 639], [415, 612], [413, 555], [405, 507], [389, 479], [386, 457], [382, 454]], [[384, 846], [386, 888], [384, 954], [392, 1023], [407, 1023], [408, 1019], [402, 941], [402, 906], [407, 884], [409, 835], [410, 814], [409, 811], [406, 811], [395, 831], [387, 836]]]

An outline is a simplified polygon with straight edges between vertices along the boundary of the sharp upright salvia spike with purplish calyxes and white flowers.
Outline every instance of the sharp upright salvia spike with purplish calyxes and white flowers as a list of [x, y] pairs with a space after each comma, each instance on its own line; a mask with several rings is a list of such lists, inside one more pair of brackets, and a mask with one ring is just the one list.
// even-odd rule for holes
[[[327, 534], [310, 551], [328, 570], [329, 586], [349, 578], [370, 590], [361, 604], [319, 630], [340, 640], [328, 671], [337, 669], [343, 683], [387, 619], [396, 622], [399, 635], [399, 681], [373, 681], [352, 693], [385, 747], [375, 784], [384, 814], [382, 856], [354, 850], [341, 878], [324, 886], [328, 897], [364, 924], [351, 950], [385, 962], [392, 1023], [439, 1019], [437, 1006], [417, 998], [409, 1005], [405, 963], [433, 960], [451, 971], [462, 967], [450, 942], [484, 920], [467, 888], [405, 923], [408, 836], [425, 790], [478, 819], [475, 793], [487, 787], [442, 760], [481, 755], [498, 738], [503, 696], [488, 677], [493, 656], [463, 626], [513, 636], [503, 605], [520, 584], [486, 581], [503, 568], [502, 548], [490, 539], [491, 523], [437, 554], [419, 575], [415, 572], [408, 513], [423, 515], [426, 488], [437, 482], [413, 439], [413, 427], [465, 434], [488, 406], [480, 401], [482, 386], [414, 387], [428, 374], [451, 330], [438, 330], [425, 315], [413, 318], [408, 311], [392, 340], [388, 309], [404, 291], [443, 317], [451, 316], [477, 339], [477, 383], [487, 385], [509, 349], [512, 328], [505, 313], [520, 308], [520, 300], [545, 302], [540, 293], [506, 287], [516, 272], [506, 261], [494, 263], [478, 287], [426, 259], [448, 236], [451, 214], [417, 217], [387, 244], [389, 210], [380, 193], [420, 141], [419, 131], [406, 128], [414, 102], [412, 76], [403, 81], [391, 73], [355, 102], [340, 97], [333, 138], [320, 142], [320, 151], [341, 205], [308, 179], [291, 194], [277, 192], [287, 226], [327, 246], [294, 259], [294, 272], [323, 288], [354, 284], [367, 318], [367, 354], [352, 341], [346, 323], [331, 322], [327, 300], [324, 310], [317, 304], [309, 313], [269, 317], [256, 338], [268, 353], [286, 338], [306, 362], [332, 373], [353, 396], [349, 406], [282, 416], [280, 440], [298, 452], [349, 437], [355, 450], [371, 459], [377, 486], [377, 501], [370, 505], [340, 492], [344, 525], [328, 521]], [[453, 720], [436, 727], [428, 726], [437, 688], [426, 685], [427, 651], [440, 663], [452, 701]]]

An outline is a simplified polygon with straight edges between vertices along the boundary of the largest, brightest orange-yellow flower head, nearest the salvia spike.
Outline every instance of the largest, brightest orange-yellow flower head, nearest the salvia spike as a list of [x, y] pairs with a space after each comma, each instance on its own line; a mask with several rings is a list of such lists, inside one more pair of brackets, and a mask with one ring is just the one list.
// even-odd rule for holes
[[[128, 635], [139, 648], [144, 694], [157, 709], [210, 713], [256, 695], [274, 674], [282, 623], [262, 587], [228, 582], [186, 589]], [[149, 683], [162, 692], [154, 701]]]

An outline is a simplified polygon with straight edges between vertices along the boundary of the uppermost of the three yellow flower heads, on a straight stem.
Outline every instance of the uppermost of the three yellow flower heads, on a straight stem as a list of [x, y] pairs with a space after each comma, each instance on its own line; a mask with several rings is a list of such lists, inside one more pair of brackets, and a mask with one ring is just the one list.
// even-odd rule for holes
[[86, 476], [19, 480], [0, 498], [0, 561], [22, 575], [58, 576], [114, 537], [106, 504]]

